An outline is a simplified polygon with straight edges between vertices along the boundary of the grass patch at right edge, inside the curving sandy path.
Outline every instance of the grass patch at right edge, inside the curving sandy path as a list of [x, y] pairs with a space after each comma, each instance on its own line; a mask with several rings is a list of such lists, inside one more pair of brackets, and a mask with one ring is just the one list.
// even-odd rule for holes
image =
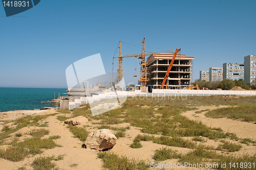
[[233, 119], [243, 119], [246, 122], [256, 121], [256, 105], [238, 106], [238, 107], [228, 107], [220, 108], [208, 111], [205, 116], [211, 118], [233, 118]]

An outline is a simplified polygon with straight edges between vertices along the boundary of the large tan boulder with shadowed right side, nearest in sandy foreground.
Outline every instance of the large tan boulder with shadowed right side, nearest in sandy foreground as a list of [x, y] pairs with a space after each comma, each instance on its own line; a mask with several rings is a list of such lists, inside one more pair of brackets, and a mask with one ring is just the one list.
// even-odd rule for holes
[[88, 135], [84, 144], [86, 148], [102, 151], [114, 147], [116, 140], [116, 136], [109, 129], [98, 129]]

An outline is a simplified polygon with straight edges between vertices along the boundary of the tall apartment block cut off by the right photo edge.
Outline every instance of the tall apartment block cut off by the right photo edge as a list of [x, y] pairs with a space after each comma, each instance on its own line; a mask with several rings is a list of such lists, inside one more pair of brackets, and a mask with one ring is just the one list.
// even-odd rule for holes
[[256, 83], [256, 56], [244, 57], [244, 82]]

